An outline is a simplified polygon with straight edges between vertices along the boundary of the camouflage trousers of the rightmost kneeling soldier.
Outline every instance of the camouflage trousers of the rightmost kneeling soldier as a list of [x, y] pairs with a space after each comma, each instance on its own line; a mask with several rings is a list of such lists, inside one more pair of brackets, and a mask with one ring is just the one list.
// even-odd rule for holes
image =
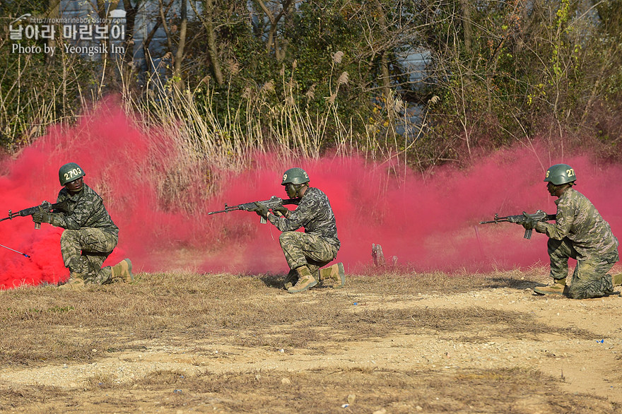
[[[577, 251], [572, 240], [548, 239], [548, 256], [551, 258], [551, 277], [565, 282], [568, 276], [568, 259], [577, 259]], [[573, 280], [568, 288], [568, 297], [587, 299], [611, 294], [614, 286], [607, 272], [618, 261], [618, 250], [608, 252], [590, 259], [577, 259]]]

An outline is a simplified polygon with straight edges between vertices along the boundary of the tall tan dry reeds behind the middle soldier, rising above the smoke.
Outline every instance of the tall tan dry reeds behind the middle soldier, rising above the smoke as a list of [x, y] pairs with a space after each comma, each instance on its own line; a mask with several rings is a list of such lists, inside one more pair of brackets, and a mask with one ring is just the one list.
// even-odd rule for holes
[[[319, 158], [326, 148], [336, 155], [357, 152], [358, 139], [351, 126], [339, 119], [337, 102], [331, 101], [325, 110], [311, 113], [296, 103], [295, 81], [281, 81], [281, 98], [269, 97], [272, 94], [266, 91], [266, 85], [248, 87], [247, 93], [236, 97], [237, 107], [228, 105], [221, 112], [214, 102], [218, 92], [203, 81], [192, 90], [177, 90], [152, 78], [141, 97], [124, 93], [120, 103], [130, 122], [146, 136], [165, 137], [163, 148], [153, 158], [164, 158], [168, 171], [184, 172], [167, 174], [165, 179], [159, 170], [145, 172], [144, 177], [158, 188], [160, 199], [192, 210], [185, 203], [187, 189], [200, 191], [198, 196], [203, 199], [226, 182], [232, 172], [257, 165], [258, 155], [265, 153], [271, 154], [272, 166], [280, 170], [300, 158]], [[127, 82], [124, 79], [124, 90], [129, 90]], [[334, 125], [330, 136], [327, 124]], [[373, 139], [368, 137], [367, 141]], [[158, 162], [153, 167], [157, 170]]]

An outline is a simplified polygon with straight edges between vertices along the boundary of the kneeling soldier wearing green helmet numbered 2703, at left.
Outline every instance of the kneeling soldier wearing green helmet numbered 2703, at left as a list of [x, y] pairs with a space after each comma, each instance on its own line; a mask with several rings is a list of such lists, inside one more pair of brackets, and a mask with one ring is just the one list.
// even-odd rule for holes
[[129, 259], [102, 268], [117, 246], [119, 228], [112, 222], [102, 198], [84, 184], [84, 175], [75, 162], [61, 166], [59, 181], [64, 188], [59, 191], [57, 202], [66, 201], [66, 208], [51, 213], [42, 210], [33, 214], [33, 221], [66, 229], [61, 235], [61, 254], [70, 272], [65, 287], [129, 282], [133, 279]]

